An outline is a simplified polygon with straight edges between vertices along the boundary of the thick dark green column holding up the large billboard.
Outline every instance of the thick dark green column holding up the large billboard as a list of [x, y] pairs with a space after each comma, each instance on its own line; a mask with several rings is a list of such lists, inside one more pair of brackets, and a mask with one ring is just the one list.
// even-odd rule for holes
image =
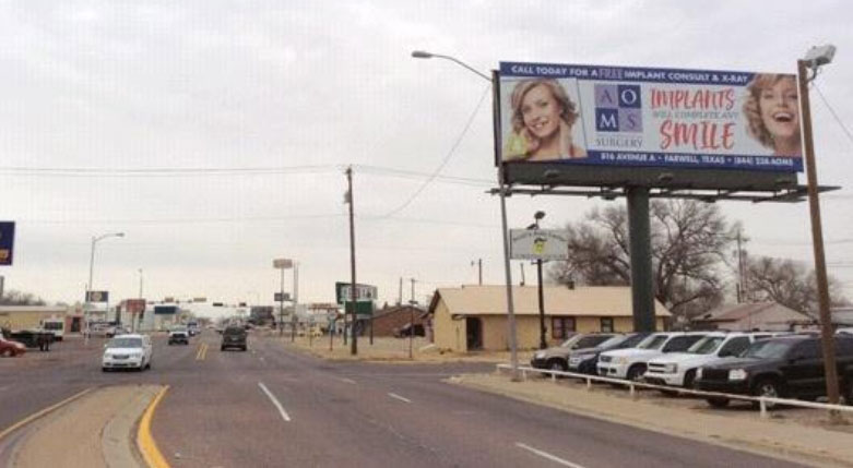
[[654, 283], [652, 280], [649, 188], [629, 187], [627, 192], [633, 331], [654, 332]]

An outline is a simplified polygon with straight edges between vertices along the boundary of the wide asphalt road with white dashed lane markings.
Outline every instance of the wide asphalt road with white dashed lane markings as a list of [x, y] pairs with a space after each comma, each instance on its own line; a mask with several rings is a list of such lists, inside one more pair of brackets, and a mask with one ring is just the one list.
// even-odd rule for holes
[[442, 382], [490, 365], [332, 363], [254, 336], [223, 352], [218, 338], [156, 338], [142, 373], [102, 373], [98, 343], [35, 368], [2, 360], [0, 430], [91, 386], [144, 382], [170, 385], [153, 434], [174, 467], [796, 466]]

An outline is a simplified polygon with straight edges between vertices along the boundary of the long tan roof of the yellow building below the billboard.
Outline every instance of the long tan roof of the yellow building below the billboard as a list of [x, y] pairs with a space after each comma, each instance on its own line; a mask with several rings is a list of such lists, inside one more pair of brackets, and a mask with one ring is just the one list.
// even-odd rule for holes
[[[566, 286], [545, 286], [545, 315], [631, 316], [631, 289], [626, 286], [585, 286], [569, 289]], [[538, 288], [513, 286], [514, 312], [518, 315], [537, 315]], [[443, 300], [451, 314], [502, 315], [507, 313], [507, 287], [463, 286], [439, 288], [429, 305], [430, 312]], [[656, 316], [670, 316], [659, 301], [654, 301]]]

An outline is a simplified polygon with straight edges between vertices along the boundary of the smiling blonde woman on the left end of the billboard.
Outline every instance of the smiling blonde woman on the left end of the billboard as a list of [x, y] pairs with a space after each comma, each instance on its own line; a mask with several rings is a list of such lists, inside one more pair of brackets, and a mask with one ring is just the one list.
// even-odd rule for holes
[[553, 160], [587, 157], [573, 144], [571, 128], [578, 120], [574, 103], [552, 79], [522, 80], [510, 97], [512, 132], [507, 139], [507, 160]]

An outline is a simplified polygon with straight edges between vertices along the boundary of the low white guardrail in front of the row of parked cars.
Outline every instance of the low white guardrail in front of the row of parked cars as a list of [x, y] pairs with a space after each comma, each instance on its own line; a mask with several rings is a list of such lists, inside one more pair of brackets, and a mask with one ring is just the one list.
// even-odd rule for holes
[[[497, 364], [497, 370], [501, 371], [503, 369], [512, 370], [512, 365], [510, 364]], [[771, 405], [785, 405], [785, 406], [798, 406], [803, 408], [814, 408], [814, 409], [826, 409], [829, 411], [848, 411], [853, 413], [853, 406], [844, 406], [844, 405], [830, 405], [826, 403], [813, 403], [813, 401], [803, 401], [799, 399], [789, 399], [789, 398], [773, 398], [768, 396], [748, 396], [748, 395], [737, 395], [737, 394], [727, 394], [727, 393], [719, 393], [719, 392], [704, 392], [704, 391], [698, 391], [698, 389], [691, 389], [691, 388], [682, 388], [682, 387], [675, 387], [675, 386], [667, 386], [667, 385], [655, 385], [650, 384], [645, 382], [635, 382], [635, 381], [628, 381], [624, 379], [612, 379], [612, 377], [603, 377], [601, 375], [590, 375], [590, 374], [579, 374], [576, 372], [567, 372], [567, 371], [554, 371], [550, 369], [536, 369], [531, 367], [523, 367], [520, 365], [518, 368], [519, 372], [521, 372], [521, 377], [523, 380], [528, 379], [528, 372], [534, 372], [545, 375], [550, 375], [552, 382], [557, 381], [557, 376], [562, 377], [569, 377], [569, 379], [578, 379], [587, 381], [587, 389], [592, 389], [592, 383], [593, 382], [604, 382], [608, 384], [615, 384], [615, 385], [625, 385], [628, 387], [628, 391], [630, 392], [630, 395], [632, 398], [637, 398], [637, 388], [651, 388], [651, 389], [659, 389], [664, 391], [667, 393], [678, 393], [678, 394], [685, 394], [685, 395], [696, 395], [701, 397], [711, 397], [711, 398], [727, 398], [727, 399], [738, 399], [743, 401], [754, 401], [758, 403], [759, 408], [761, 410], [761, 417], [767, 418], [768, 415], [768, 406], [767, 404]]]

